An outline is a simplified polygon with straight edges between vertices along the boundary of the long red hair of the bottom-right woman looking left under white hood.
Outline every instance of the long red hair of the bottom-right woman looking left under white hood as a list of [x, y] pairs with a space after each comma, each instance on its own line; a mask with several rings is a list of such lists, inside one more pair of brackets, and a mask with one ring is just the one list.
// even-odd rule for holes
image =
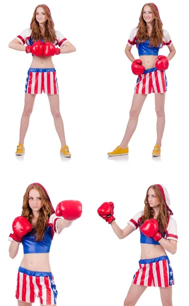
[[168, 225], [168, 221], [169, 221], [169, 218], [170, 218], [170, 213], [167, 209], [166, 203], [164, 202], [161, 191], [160, 191], [160, 189], [157, 185], [152, 185], [147, 190], [146, 198], [145, 198], [145, 209], [144, 209], [143, 216], [141, 216], [140, 224], [144, 223], [148, 219], [153, 219], [154, 218], [154, 213], [155, 213], [154, 209], [152, 207], [150, 207], [149, 202], [148, 202], [148, 192], [149, 192], [150, 188], [152, 188], [154, 190], [155, 195], [156, 195], [157, 199], [159, 200], [160, 210], [159, 210], [159, 214], [158, 214], [158, 217], [157, 217], [157, 222], [159, 224], [159, 230], [158, 231], [161, 234], [163, 234], [164, 231], [166, 230], [167, 225]]

